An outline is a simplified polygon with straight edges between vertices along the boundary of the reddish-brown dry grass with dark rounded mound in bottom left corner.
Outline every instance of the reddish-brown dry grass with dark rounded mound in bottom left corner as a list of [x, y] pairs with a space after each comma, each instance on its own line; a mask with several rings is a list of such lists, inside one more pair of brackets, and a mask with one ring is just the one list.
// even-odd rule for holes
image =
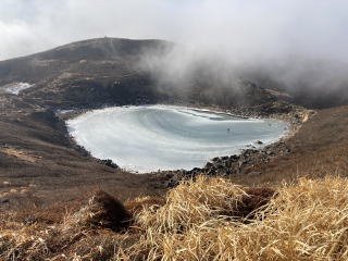
[[2, 214], [8, 222], [0, 226], [0, 260], [103, 261], [112, 259], [120, 246], [137, 239], [135, 233], [115, 233], [129, 224], [130, 215], [120, 201], [101, 190], [76, 212], [62, 217], [64, 212], [59, 214], [59, 209], [61, 206], [37, 208], [22, 215]]

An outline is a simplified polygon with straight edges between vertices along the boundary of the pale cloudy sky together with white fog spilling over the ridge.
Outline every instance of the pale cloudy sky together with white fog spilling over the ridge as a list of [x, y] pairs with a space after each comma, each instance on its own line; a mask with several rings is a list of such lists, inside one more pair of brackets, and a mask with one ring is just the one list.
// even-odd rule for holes
[[0, 60], [95, 37], [165, 39], [177, 48], [145, 63], [179, 84], [212, 64], [226, 79], [347, 89], [347, 10], [344, 0], [2, 0]]

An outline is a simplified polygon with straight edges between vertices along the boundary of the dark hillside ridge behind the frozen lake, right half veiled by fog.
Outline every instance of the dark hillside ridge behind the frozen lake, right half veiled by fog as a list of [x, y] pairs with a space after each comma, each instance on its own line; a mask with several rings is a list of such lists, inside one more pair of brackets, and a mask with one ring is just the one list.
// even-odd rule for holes
[[[0, 95], [9, 84], [28, 83], [35, 86], [18, 97], [8, 95], [7, 101], [52, 109], [158, 102], [254, 107], [278, 99], [313, 108], [348, 103], [348, 66], [338, 63], [303, 62], [297, 70], [295, 61], [291, 70], [300, 76], [294, 76], [290, 87], [282, 77], [274, 77], [287, 74], [286, 67], [276, 64], [272, 72], [271, 67], [244, 69], [239, 77], [226, 80], [219, 60], [206, 61], [197, 64], [185, 84], [176, 80], [175, 72], [163, 83], [156, 72], [159, 69], [139, 66], [145, 55], [161, 59], [173, 47], [175, 44], [164, 40], [104, 37], [0, 61]], [[322, 71], [330, 76], [324, 82], [318, 79]]]

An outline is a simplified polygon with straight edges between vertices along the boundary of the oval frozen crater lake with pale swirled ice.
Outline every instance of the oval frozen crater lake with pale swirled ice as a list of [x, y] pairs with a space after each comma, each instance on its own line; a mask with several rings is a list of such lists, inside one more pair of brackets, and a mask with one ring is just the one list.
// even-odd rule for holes
[[276, 120], [236, 117], [172, 105], [95, 110], [67, 121], [76, 142], [99, 159], [138, 173], [202, 167], [210, 159], [262, 146], [287, 133]]

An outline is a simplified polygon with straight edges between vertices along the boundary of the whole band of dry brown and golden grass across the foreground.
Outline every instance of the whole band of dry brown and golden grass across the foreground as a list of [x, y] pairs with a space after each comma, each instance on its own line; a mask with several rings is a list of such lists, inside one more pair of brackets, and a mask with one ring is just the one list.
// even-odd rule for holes
[[[98, 206], [89, 200], [53, 224], [4, 214], [0, 260], [348, 260], [343, 177], [301, 178], [276, 191], [199, 177], [165, 199], [128, 201], [133, 221], [122, 231], [104, 227], [104, 217], [117, 211]], [[102, 224], [100, 213], [108, 214]], [[94, 217], [91, 225], [76, 214]]]

